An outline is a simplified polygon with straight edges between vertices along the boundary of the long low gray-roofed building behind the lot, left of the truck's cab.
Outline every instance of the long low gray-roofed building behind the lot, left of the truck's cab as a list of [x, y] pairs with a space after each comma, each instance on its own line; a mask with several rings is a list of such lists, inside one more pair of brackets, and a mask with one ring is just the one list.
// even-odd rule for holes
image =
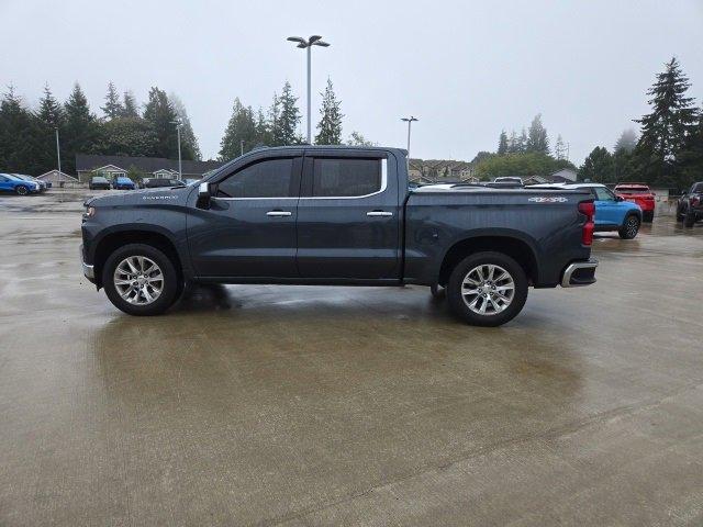
[[[217, 169], [223, 164], [182, 160], [181, 165], [182, 179], [200, 179], [205, 172]], [[93, 176], [114, 179], [134, 172], [144, 178], [174, 178], [178, 177], [178, 159], [77, 154], [76, 172], [81, 182], [88, 182]]]

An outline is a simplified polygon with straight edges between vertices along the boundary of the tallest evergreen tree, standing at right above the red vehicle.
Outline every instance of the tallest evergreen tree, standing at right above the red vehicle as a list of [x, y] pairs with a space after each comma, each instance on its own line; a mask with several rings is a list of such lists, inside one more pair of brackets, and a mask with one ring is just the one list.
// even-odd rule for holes
[[644, 181], [680, 182], [677, 157], [694, 132], [698, 119], [693, 98], [685, 96], [690, 86], [674, 57], [647, 91], [651, 96], [648, 101], [651, 113], [635, 120], [640, 124], [640, 137], [634, 157]]

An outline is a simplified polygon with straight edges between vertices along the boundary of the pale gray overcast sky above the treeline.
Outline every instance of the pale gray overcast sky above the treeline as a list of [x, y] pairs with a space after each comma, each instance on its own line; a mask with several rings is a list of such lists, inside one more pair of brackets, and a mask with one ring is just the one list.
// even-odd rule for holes
[[289, 35], [332, 44], [313, 52], [313, 123], [330, 77], [345, 138], [404, 147], [413, 114], [413, 157], [470, 160], [542, 113], [580, 164], [636, 126], [672, 55], [703, 98], [703, 0], [0, 0], [0, 20], [3, 88], [35, 105], [46, 82], [64, 100], [78, 81], [100, 113], [110, 80], [140, 102], [158, 86], [186, 104], [205, 158], [235, 97], [267, 108], [289, 80], [304, 115], [305, 57]]

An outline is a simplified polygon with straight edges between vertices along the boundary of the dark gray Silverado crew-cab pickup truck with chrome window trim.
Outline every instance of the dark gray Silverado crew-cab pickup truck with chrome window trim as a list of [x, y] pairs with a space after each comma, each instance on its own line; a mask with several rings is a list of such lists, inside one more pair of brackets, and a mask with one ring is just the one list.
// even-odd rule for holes
[[85, 276], [132, 315], [188, 281], [446, 288], [453, 312], [496, 326], [527, 288], [595, 282], [582, 190], [437, 184], [410, 191], [395, 148], [261, 148], [199, 183], [89, 199]]

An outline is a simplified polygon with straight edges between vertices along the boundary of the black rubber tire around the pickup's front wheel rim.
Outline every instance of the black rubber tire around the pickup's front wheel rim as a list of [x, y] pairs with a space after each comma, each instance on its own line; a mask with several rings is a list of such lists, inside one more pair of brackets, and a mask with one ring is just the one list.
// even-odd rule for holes
[[[164, 281], [160, 294], [152, 303], [137, 305], [124, 300], [116, 290], [114, 283], [114, 272], [116, 267], [125, 258], [131, 256], [144, 256], [153, 260], [161, 270]], [[102, 268], [102, 287], [110, 302], [124, 313], [136, 316], [159, 315], [168, 310], [182, 292], [181, 280], [178, 277], [176, 267], [168, 256], [154, 246], [146, 244], [130, 244], [114, 250]]]

